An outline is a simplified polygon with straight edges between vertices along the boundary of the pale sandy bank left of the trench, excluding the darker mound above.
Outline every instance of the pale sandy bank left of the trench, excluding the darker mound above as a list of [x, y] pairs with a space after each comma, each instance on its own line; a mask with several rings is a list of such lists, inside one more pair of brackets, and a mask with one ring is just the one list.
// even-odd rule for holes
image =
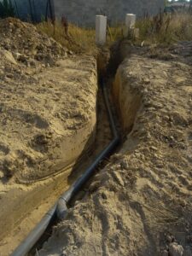
[[94, 137], [94, 60], [71, 58], [57, 64], [1, 84], [1, 172], [9, 182], [48, 177], [71, 164], [85, 149], [86, 137], [90, 143]]

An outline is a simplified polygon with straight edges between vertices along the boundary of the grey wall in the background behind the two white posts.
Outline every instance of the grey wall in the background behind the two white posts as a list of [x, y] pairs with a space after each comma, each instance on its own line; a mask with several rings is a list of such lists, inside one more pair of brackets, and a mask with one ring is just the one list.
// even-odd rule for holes
[[112, 23], [125, 20], [125, 14], [137, 16], [157, 14], [164, 9], [164, 0], [53, 0], [55, 17], [86, 26], [93, 26], [95, 15], [107, 15]]

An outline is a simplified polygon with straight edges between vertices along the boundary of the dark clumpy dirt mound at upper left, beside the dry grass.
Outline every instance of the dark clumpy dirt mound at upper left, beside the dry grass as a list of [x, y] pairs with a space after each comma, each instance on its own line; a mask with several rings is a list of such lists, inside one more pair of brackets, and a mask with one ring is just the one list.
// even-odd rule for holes
[[13, 18], [0, 20], [0, 49], [12, 53], [16, 61], [35, 66], [39, 63], [46, 66], [55, 65], [55, 60], [67, 56], [67, 49], [55, 42], [29, 23]]

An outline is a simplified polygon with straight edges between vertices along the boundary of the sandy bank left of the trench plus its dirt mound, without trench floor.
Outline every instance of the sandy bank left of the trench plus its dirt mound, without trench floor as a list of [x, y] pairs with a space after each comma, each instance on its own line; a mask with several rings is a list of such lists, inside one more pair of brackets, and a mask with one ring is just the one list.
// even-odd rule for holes
[[0, 20], [0, 36], [0, 177], [47, 177], [72, 164], [84, 136], [94, 136], [96, 63], [63, 61], [66, 49], [20, 20]]

